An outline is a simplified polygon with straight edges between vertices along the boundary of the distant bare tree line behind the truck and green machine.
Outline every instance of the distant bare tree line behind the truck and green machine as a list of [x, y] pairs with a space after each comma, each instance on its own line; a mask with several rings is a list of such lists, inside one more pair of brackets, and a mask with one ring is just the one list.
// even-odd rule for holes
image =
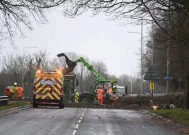
[[[74, 52], [67, 52], [66, 55], [70, 60], [77, 60], [80, 56]], [[103, 61], [93, 61], [90, 58], [85, 59], [106, 79], [117, 79], [117, 85], [127, 86], [130, 92], [131, 79], [133, 82], [133, 93], [138, 93], [139, 85], [137, 77], [130, 77], [126, 74], [115, 76], [108, 73], [108, 69]], [[65, 58], [54, 57], [50, 58], [49, 53], [38, 51], [33, 54], [7, 54], [0, 60], [0, 90], [1, 95], [7, 86], [12, 86], [14, 82], [24, 86], [25, 96], [32, 96], [32, 87], [34, 75], [39, 66], [43, 71], [55, 71], [58, 68], [66, 68]], [[90, 91], [93, 86], [96, 76], [90, 72], [83, 63], [78, 63], [72, 74], [76, 74], [79, 81], [79, 89], [81, 92]]]

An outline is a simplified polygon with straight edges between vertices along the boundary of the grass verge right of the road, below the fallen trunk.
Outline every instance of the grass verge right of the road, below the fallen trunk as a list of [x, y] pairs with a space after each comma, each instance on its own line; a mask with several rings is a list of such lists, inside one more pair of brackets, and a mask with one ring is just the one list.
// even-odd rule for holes
[[160, 110], [150, 110], [150, 111], [158, 115], [161, 115], [165, 118], [169, 118], [178, 121], [181, 124], [189, 126], [189, 110], [175, 108], [175, 109], [160, 109]]

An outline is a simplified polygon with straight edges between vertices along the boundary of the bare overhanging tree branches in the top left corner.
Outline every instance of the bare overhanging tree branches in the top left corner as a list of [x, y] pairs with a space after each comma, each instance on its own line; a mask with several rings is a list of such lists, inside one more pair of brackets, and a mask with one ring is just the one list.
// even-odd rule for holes
[[45, 9], [64, 2], [65, 0], [0, 0], [1, 33], [13, 40], [17, 32], [22, 33], [23, 27], [32, 29], [32, 18], [36, 22], [44, 23]]

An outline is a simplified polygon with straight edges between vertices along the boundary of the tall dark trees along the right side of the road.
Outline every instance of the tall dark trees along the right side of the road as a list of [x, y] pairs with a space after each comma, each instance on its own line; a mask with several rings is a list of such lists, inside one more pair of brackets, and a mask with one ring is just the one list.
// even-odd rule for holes
[[[158, 4], [164, 3], [161, 7]], [[189, 106], [189, 1], [153, 1], [148, 10], [155, 21], [147, 41], [143, 61], [147, 69], [158, 70], [160, 86], [169, 86], [168, 92], [185, 92], [185, 106]], [[160, 26], [160, 27], [159, 27]], [[169, 76], [169, 84], [164, 77]]]

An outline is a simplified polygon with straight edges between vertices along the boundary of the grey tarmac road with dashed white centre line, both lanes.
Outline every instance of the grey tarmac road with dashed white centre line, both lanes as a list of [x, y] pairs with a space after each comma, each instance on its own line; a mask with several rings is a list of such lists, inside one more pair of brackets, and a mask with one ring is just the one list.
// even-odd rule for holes
[[0, 116], [0, 135], [177, 135], [133, 110], [29, 108]]

